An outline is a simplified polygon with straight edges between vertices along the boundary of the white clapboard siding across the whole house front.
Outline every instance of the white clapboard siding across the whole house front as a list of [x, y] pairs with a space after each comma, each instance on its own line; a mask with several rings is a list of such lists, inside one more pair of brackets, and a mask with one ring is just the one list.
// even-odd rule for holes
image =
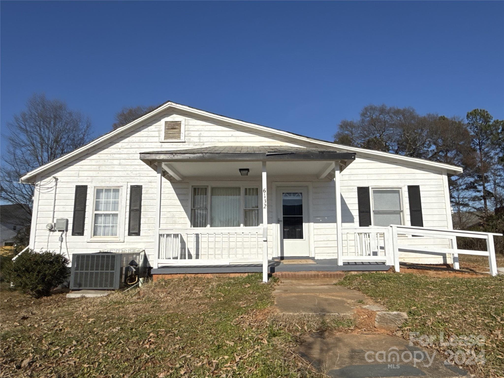
[[[184, 143], [162, 142], [164, 121], [184, 118]], [[71, 256], [74, 252], [96, 252], [104, 248], [145, 248], [150, 261], [154, 260], [156, 230], [156, 172], [140, 161], [139, 153], [145, 151], [185, 149], [216, 145], [291, 145], [299, 142], [272, 137], [266, 132], [245, 131], [226, 124], [190, 117], [187, 114], [166, 113], [157, 116], [135, 130], [120, 135], [116, 139], [98, 146], [85, 155], [57, 167], [39, 177], [42, 184], [50, 183], [51, 176], [58, 178], [54, 218], [68, 218], [69, 231], [64, 242], [58, 241], [58, 232], [49, 232], [45, 225], [52, 219], [54, 192], [50, 185], [42, 185], [34, 204], [35, 222], [34, 248], [61, 250]], [[313, 147], [306, 145], [304, 147]], [[240, 178], [237, 178], [240, 180]], [[277, 214], [274, 209], [273, 181], [292, 184], [303, 181], [308, 187], [309, 230], [312, 256], [317, 259], [336, 258], [336, 199], [334, 180], [317, 180], [313, 177], [268, 176], [268, 250], [272, 257], [276, 251]], [[141, 236], [128, 236], [128, 211], [130, 185], [143, 185]], [[72, 236], [72, 217], [76, 185], [88, 185], [86, 207], [86, 232], [84, 236]], [[121, 186], [127, 193], [121, 197], [120, 224], [124, 235], [119, 242], [90, 241], [94, 186]], [[190, 181], [171, 182], [162, 179], [160, 227], [165, 229], [185, 228], [190, 224], [191, 188]], [[443, 172], [434, 168], [419, 168], [409, 162], [390, 162], [386, 159], [363, 158], [357, 154], [356, 160], [341, 173], [341, 194], [343, 227], [358, 226], [357, 186], [402, 187], [406, 225], [409, 225], [407, 185], [420, 185], [423, 220], [425, 226], [448, 228], [450, 210], [446, 208], [446, 193]], [[277, 205], [278, 206], [278, 205]], [[447, 246], [443, 239], [409, 238], [410, 244]], [[404, 253], [410, 261], [426, 261], [426, 255]]]

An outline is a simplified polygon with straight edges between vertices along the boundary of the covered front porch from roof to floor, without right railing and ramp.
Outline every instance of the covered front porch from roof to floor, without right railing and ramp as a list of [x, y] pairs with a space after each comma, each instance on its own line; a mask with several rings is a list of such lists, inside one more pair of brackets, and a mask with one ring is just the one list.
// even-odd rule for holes
[[[314, 218], [319, 226], [327, 226], [320, 232], [334, 234], [334, 241], [338, 230], [342, 232], [341, 201], [336, 200], [339, 174], [355, 159], [354, 153], [225, 146], [145, 152], [140, 158], [158, 175], [155, 269], [260, 263], [266, 274], [267, 262], [274, 258], [316, 257]], [[164, 227], [174, 223], [163, 221], [170, 215], [164, 211], [167, 182], [184, 183], [190, 192], [186, 199], [177, 198], [185, 205], [185, 221], [176, 227]], [[314, 182], [324, 186], [319, 203], [313, 203]], [[334, 242], [330, 252], [336, 260], [339, 249]]]

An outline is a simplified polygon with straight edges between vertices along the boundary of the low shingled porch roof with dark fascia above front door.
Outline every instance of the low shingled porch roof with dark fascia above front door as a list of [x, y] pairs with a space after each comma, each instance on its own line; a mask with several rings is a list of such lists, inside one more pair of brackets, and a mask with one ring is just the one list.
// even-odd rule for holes
[[291, 146], [209, 146], [184, 150], [141, 152], [140, 159], [200, 160], [353, 160], [355, 153]]

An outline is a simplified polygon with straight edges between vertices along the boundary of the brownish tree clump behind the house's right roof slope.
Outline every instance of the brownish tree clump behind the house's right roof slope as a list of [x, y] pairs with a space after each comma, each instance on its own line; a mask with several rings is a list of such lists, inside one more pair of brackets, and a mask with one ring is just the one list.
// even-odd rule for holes
[[464, 167], [449, 178], [457, 222], [473, 211], [480, 186], [474, 183], [476, 153], [467, 123], [460, 117], [419, 115], [411, 107], [367, 105], [358, 120], [343, 120], [335, 141], [350, 146], [386, 151]]

